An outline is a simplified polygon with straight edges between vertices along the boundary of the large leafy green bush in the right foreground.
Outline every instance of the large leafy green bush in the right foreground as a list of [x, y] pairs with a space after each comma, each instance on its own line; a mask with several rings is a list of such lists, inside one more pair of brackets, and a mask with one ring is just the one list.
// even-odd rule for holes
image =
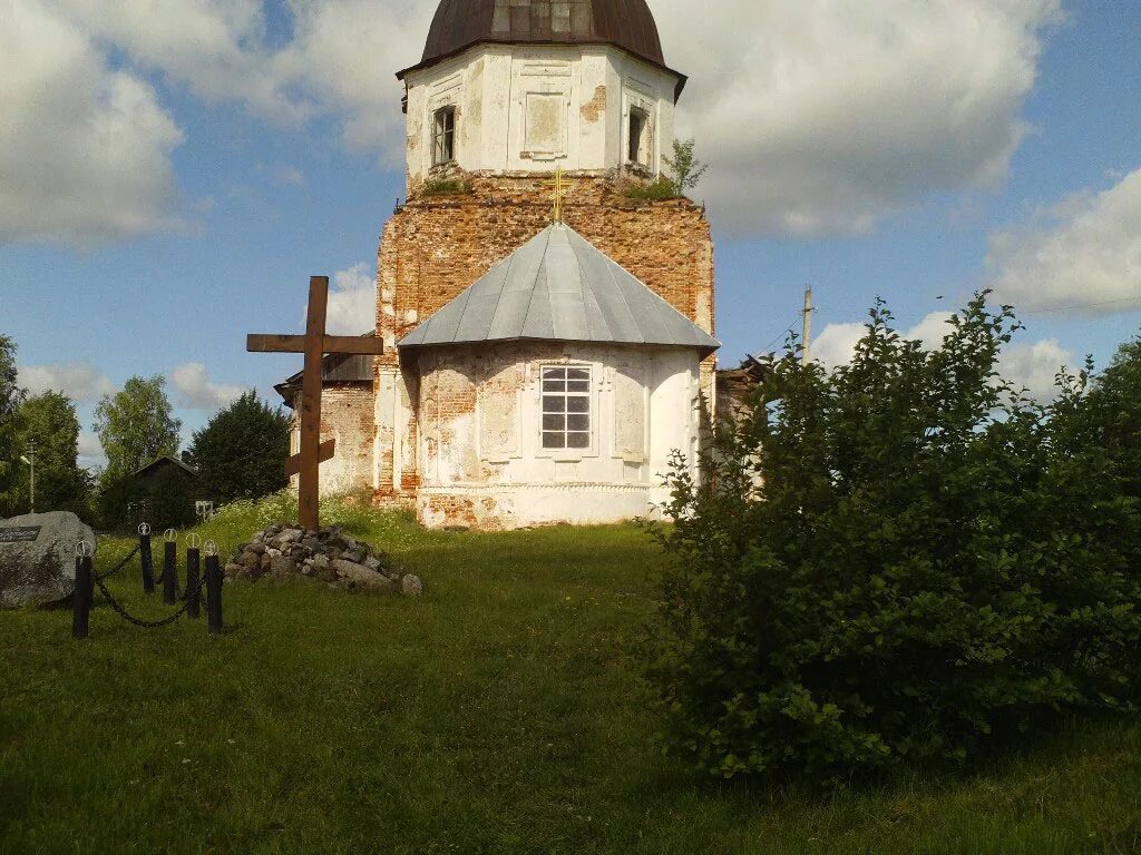
[[1135, 503], [1074, 439], [1097, 384], [1002, 382], [1015, 325], [985, 295], [934, 351], [871, 317], [831, 375], [776, 363], [701, 483], [673, 470], [649, 676], [713, 774], [963, 765], [1138, 700]]

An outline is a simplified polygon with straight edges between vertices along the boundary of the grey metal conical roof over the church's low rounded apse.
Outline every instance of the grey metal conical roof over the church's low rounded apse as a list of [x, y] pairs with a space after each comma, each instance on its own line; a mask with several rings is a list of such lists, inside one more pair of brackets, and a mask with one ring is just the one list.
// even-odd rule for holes
[[553, 340], [697, 348], [720, 342], [569, 226], [555, 223], [408, 333], [402, 348]]

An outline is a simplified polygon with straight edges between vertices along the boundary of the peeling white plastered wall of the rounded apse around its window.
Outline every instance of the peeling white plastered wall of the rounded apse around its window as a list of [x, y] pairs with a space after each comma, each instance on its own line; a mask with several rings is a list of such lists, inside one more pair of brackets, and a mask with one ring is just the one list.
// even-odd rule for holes
[[[691, 349], [511, 343], [415, 358], [418, 504], [428, 526], [454, 522], [437, 510], [444, 498], [469, 499], [476, 524], [496, 528], [653, 516], [669, 498], [663, 474], [674, 450], [696, 467], [698, 355]], [[591, 372], [586, 449], [542, 447], [542, 368], [559, 365]], [[683, 412], [691, 417], [679, 418]]]

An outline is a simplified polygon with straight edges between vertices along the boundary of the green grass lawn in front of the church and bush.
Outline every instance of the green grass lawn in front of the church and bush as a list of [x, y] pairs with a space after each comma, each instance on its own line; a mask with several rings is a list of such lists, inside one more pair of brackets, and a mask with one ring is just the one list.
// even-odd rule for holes
[[[276, 510], [210, 534], [229, 547]], [[638, 529], [337, 513], [427, 594], [227, 587], [218, 638], [102, 606], [75, 643], [65, 611], [0, 613], [0, 853], [1141, 850], [1139, 726], [823, 798], [695, 777], [656, 749], [637, 676], [662, 560]], [[114, 580], [163, 612], [137, 588], [137, 565]]]

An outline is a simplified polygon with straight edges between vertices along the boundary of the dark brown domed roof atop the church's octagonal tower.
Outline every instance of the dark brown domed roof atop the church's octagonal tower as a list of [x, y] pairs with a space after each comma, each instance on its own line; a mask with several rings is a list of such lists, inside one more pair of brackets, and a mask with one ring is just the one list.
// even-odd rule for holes
[[479, 42], [616, 44], [665, 66], [646, 0], [442, 0], [415, 67]]

